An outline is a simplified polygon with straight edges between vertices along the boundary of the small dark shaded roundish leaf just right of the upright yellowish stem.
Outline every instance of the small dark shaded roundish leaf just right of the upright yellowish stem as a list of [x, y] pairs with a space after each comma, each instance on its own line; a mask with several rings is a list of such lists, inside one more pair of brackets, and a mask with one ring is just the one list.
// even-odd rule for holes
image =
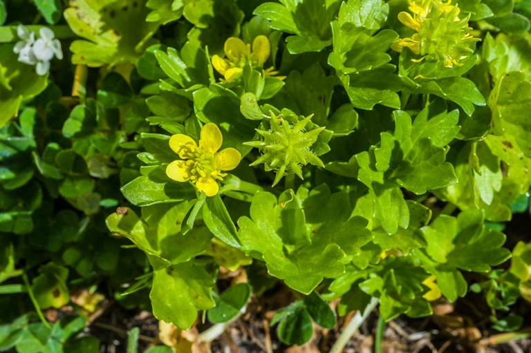
[[97, 100], [106, 108], [118, 108], [128, 104], [133, 99], [133, 92], [127, 81], [114, 71], [108, 73], [100, 90], [97, 91]]

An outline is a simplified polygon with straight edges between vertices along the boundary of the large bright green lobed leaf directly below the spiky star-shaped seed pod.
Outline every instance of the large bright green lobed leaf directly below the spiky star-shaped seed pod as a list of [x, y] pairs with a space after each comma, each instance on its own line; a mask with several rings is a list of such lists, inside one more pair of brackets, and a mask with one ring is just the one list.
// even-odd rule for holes
[[359, 254], [371, 240], [367, 220], [351, 212], [348, 194], [330, 195], [326, 184], [309, 193], [304, 187], [297, 194], [284, 191], [278, 202], [271, 193], [259, 192], [251, 218], [238, 220], [238, 238], [245, 254], [265, 260], [272, 276], [309, 294], [324, 277], [343, 274], [344, 258]]

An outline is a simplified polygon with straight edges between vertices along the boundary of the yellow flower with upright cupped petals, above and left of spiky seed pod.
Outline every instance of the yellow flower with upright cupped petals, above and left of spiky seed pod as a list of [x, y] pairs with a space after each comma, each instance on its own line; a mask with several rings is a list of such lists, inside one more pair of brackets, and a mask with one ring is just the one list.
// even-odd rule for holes
[[[252, 41], [252, 48], [250, 44], [245, 44], [241, 39], [230, 37], [225, 41], [225, 59], [214, 55], [212, 57], [212, 66], [225, 77], [225, 81], [231, 82], [236, 75], [243, 71], [247, 64], [251, 66], [261, 66], [269, 58], [271, 53], [271, 44], [268, 37], [259, 35]], [[263, 77], [274, 76], [279, 73], [273, 71], [274, 68], [263, 70]], [[278, 79], [285, 79], [286, 77], [277, 77]]]

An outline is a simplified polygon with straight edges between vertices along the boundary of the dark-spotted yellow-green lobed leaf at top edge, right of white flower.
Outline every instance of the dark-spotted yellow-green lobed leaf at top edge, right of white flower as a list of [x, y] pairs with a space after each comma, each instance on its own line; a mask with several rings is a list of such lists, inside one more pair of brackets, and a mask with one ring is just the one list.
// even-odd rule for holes
[[75, 7], [67, 8], [66, 22], [76, 35], [86, 39], [71, 44], [73, 64], [136, 64], [145, 48], [155, 44], [150, 39], [160, 25], [145, 21], [149, 13], [146, 3], [147, 0], [77, 0]]

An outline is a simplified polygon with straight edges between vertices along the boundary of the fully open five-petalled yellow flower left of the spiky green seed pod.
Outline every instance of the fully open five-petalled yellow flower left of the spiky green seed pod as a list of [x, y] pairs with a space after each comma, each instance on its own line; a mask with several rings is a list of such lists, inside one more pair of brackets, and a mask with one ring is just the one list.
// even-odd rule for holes
[[173, 135], [169, 147], [182, 160], [171, 162], [166, 167], [169, 178], [178, 182], [191, 180], [199, 191], [207, 196], [214, 196], [219, 191], [216, 180], [223, 180], [241, 160], [238, 150], [231, 148], [219, 151], [223, 135], [216, 124], [208, 123], [201, 129], [199, 146], [191, 137], [183, 134]]

